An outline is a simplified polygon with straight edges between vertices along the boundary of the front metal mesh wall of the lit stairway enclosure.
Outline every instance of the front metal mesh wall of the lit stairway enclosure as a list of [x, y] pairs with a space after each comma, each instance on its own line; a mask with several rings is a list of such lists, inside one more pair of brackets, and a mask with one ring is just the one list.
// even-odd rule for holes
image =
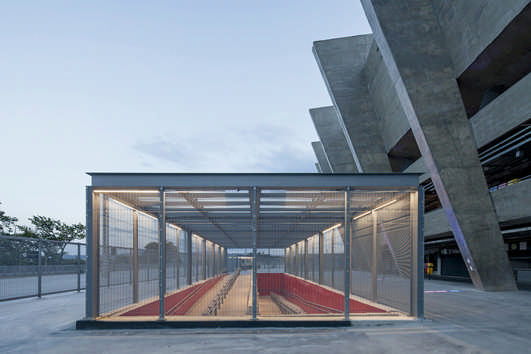
[[[348, 215], [342, 189], [95, 195], [99, 314], [158, 315], [165, 285], [166, 316], [254, 316], [253, 309], [256, 316], [343, 315], [346, 255], [351, 312], [387, 311], [378, 304], [411, 309], [416, 231], [409, 192], [353, 190]], [[165, 278], [159, 279], [164, 234]], [[221, 274], [226, 248], [216, 242], [230, 245], [228, 274]]]

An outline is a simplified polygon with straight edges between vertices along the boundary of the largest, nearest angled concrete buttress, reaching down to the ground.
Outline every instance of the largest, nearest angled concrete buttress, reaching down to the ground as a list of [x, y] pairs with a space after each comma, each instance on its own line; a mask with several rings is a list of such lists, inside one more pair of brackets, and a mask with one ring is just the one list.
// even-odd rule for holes
[[474, 285], [516, 290], [432, 1], [361, 2]]

